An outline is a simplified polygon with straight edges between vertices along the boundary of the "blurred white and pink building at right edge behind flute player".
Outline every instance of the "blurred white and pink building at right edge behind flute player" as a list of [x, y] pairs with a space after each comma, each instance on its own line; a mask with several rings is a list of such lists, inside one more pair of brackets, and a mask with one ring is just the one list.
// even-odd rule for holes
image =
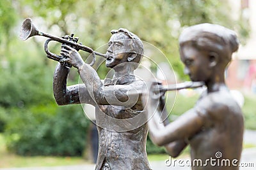
[[256, 94], [256, 1], [229, 0], [232, 16], [243, 17], [250, 24], [250, 37], [239, 46], [227, 70], [227, 85], [230, 89], [245, 90]]

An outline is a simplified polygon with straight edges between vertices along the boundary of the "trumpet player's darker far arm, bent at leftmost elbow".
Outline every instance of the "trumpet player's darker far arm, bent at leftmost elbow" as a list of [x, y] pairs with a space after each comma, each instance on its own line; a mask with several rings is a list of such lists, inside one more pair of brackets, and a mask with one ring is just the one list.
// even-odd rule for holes
[[93, 104], [93, 100], [83, 84], [67, 87], [67, 76], [69, 70], [69, 68], [58, 63], [54, 71], [53, 94], [56, 103], [58, 105], [79, 103]]

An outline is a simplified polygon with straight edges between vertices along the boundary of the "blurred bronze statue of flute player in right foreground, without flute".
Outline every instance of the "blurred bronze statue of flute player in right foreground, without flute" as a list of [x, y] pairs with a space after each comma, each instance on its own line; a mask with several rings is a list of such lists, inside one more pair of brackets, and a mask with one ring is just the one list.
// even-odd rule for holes
[[[157, 98], [148, 96], [150, 138], [177, 157], [189, 145], [192, 169], [239, 169], [243, 145], [243, 113], [225, 85], [224, 72], [239, 43], [234, 31], [214, 24], [185, 29], [179, 38], [180, 59], [192, 81], [204, 81], [207, 90], [191, 110], [174, 122], [159, 124]], [[220, 164], [211, 164], [209, 160]], [[216, 163], [216, 162], [215, 162]]]

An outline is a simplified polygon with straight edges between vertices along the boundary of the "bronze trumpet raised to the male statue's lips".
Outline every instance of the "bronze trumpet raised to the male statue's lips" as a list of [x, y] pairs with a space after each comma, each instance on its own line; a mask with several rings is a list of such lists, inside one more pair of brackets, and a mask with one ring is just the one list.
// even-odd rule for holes
[[[71, 34], [71, 36], [68, 36], [68, 37], [63, 36], [62, 38], [60, 38], [58, 36], [52, 36], [51, 34], [47, 34], [45, 32], [39, 31], [35, 27], [35, 25], [32, 23], [31, 18], [26, 18], [24, 20], [24, 22], [22, 22], [22, 26], [20, 28], [20, 39], [25, 41], [26, 39], [28, 39], [32, 36], [44, 36], [44, 37], [49, 38], [45, 41], [45, 44], [44, 44], [45, 53], [47, 53], [47, 57], [49, 59], [56, 60], [58, 62], [62, 62], [65, 59], [65, 57], [57, 55], [55, 53], [52, 53], [48, 50], [48, 43], [50, 41], [58, 41], [62, 44], [69, 45], [72, 48], [75, 48], [77, 51], [83, 50], [85, 52], [92, 53], [93, 60], [90, 63], [90, 66], [93, 66], [93, 64], [95, 63], [95, 60], [96, 60], [95, 55], [99, 55], [100, 57], [107, 58], [107, 56], [105, 54], [95, 52], [92, 48], [82, 45], [81, 43], [77, 43], [78, 38], [73, 38], [74, 34]], [[69, 64], [65, 64], [65, 66], [71, 67]]]

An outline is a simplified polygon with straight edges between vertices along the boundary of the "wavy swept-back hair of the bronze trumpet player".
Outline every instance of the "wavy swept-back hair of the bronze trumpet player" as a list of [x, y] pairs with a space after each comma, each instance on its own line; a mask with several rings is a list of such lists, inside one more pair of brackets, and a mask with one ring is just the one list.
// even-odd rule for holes
[[113, 29], [111, 31], [111, 34], [116, 34], [119, 32], [124, 33], [126, 36], [132, 39], [131, 50], [134, 50], [134, 52], [137, 54], [136, 58], [132, 60], [132, 62], [140, 63], [140, 60], [143, 57], [143, 53], [144, 53], [143, 43], [141, 39], [138, 36], [136, 36], [136, 34], [133, 34], [132, 32], [124, 28], [120, 28], [118, 30]]

